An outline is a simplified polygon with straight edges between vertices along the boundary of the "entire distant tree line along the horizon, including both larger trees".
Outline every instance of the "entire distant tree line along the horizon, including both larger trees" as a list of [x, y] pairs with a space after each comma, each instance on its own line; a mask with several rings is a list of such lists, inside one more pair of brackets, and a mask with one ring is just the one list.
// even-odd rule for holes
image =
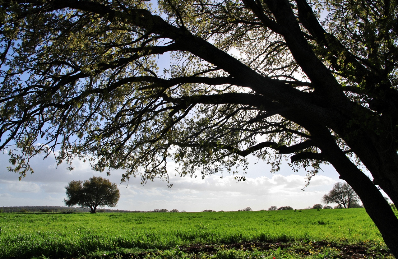
[[[112, 210], [101, 208], [96, 210], [97, 206], [115, 207], [119, 201], [119, 189], [115, 183], [111, 183], [108, 179], [93, 176], [86, 181], [70, 181], [65, 187], [67, 199], [64, 203], [68, 207], [61, 206], [16, 206], [16, 207], [2, 207], [0, 212], [145, 212], [140, 210]], [[388, 199], [385, 197], [385, 199]], [[332, 190], [322, 197], [322, 201], [326, 204], [336, 203], [334, 208], [363, 208], [359, 204], [359, 197], [347, 183], [335, 183]], [[80, 207], [72, 207], [79, 205]], [[392, 205], [393, 206], [393, 205]], [[90, 209], [89, 209], [90, 208]], [[331, 209], [332, 206], [322, 204], [314, 204], [312, 207], [308, 206], [304, 209]], [[271, 206], [268, 210], [293, 210], [291, 206]], [[222, 212], [223, 210], [221, 210]], [[253, 211], [252, 208], [246, 207], [238, 211]], [[295, 209], [297, 211], [297, 209]], [[301, 210], [299, 210], [301, 211]], [[154, 209], [147, 212], [179, 212], [177, 209]], [[185, 212], [182, 210], [181, 212]], [[215, 210], [207, 209], [202, 212], [215, 212]]]

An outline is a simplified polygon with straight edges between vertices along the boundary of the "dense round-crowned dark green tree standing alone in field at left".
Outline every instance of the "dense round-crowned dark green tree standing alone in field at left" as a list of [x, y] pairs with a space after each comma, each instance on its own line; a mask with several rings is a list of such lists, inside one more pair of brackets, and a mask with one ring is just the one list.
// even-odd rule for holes
[[64, 200], [66, 206], [88, 207], [91, 213], [96, 213], [98, 206], [115, 207], [120, 194], [116, 183], [100, 176], [93, 176], [84, 181], [70, 181]]

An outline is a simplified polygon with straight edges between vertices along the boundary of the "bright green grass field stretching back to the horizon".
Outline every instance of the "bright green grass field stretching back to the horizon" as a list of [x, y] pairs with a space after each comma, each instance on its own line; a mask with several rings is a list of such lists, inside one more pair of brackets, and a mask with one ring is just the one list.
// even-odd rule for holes
[[0, 214], [0, 258], [249, 241], [382, 241], [363, 208], [198, 213]]

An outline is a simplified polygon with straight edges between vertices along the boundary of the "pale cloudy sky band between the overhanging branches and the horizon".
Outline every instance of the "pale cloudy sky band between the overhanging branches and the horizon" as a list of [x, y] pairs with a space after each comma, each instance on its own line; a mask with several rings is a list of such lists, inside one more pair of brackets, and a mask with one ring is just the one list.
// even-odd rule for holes
[[[117, 209], [148, 211], [156, 208], [178, 209], [187, 212], [205, 209], [232, 211], [246, 207], [253, 210], [268, 209], [270, 206], [291, 206], [306, 208], [321, 203], [322, 196], [330, 191], [334, 183], [341, 181], [332, 166], [323, 166], [314, 176], [310, 185], [305, 186], [304, 170], [293, 172], [284, 163], [277, 173], [270, 173], [265, 162], [251, 162], [246, 181], [237, 182], [233, 175], [213, 175], [201, 179], [174, 175], [174, 165], [168, 162], [171, 188], [167, 183], [157, 180], [140, 184], [139, 178], [133, 178], [129, 184], [120, 183], [123, 171], [112, 171], [109, 177], [105, 173], [93, 171], [90, 164], [75, 161], [73, 171], [66, 164], [58, 167], [54, 158], [35, 157], [31, 160], [33, 174], [18, 181], [18, 175], [8, 172], [8, 155], [0, 154], [0, 206], [64, 206], [66, 198], [64, 187], [72, 180], [86, 180], [93, 175], [109, 179], [119, 185], [121, 198]], [[325, 205], [325, 204], [323, 204]]]

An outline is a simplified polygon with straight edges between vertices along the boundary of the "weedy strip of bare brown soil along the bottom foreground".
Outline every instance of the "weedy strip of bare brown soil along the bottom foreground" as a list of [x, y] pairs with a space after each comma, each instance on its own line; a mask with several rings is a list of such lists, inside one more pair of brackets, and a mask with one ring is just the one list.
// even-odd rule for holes
[[[281, 249], [278, 249], [279, 247]], [[278, 250], [280, 254], [276, 256]], [[228, 257], [230, 259], [272, 259], [274, 254], [278, 259], [394, 259], [383, 243], [341, 244], [327, 241], [195, 244], [170, 247], [166, 250], [117, 248], [62, 259], [220, 259], [219, 253], [229, 253], [228, 251], [240, 254], [240, 257]]]

